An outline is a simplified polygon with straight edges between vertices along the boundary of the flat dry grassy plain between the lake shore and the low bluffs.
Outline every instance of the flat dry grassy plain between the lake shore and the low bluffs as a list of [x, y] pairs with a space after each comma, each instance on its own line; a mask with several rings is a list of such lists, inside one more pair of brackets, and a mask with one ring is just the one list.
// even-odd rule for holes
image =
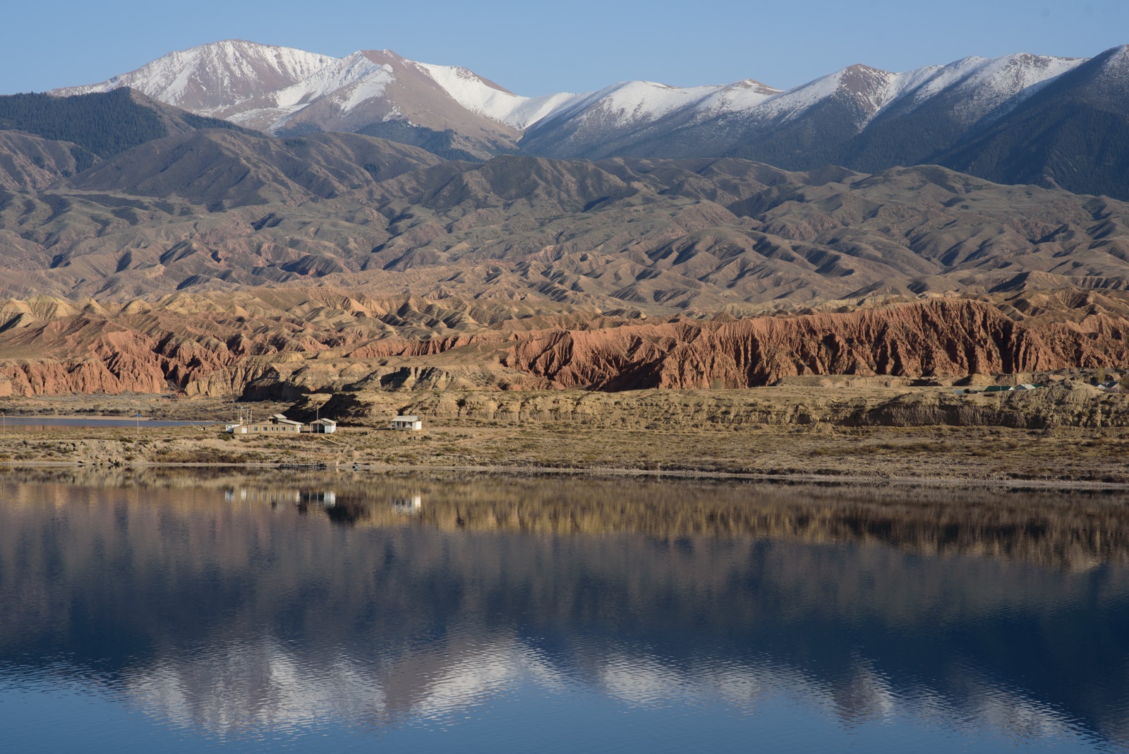
[[[623, 395], [623, 394], [619, 394]], [[90, 398], [86, 398], [90, 402]], [[231, 403], [122, 396], [99, 413], [225, 421]], [[76, 400], [10, 401], [8, 415], [76, 414]], [[256, 415], [282, 404], [255, 404]], [[426, 418], [426, 430], [341, 427], [335, 435], [233, 437], [219, 427], [14, 428], [0, 432], [9, 465], [274, 465], [318, 462], [362, 468], [488, 468], [510, 472], [750, 474], [824, 479], [1031, 481], [1129, 484], [1129, 428], [843, 427], [711, 423], [656, 428], [572, 420]], [[375, 422], [374, 422], [375, 423]], [[650, 428], [648, 428], [650, 427]]]

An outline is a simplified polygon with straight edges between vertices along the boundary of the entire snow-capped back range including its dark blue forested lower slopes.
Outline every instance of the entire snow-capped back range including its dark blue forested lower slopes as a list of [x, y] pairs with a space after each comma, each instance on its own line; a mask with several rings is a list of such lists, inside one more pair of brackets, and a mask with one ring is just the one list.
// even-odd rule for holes
[[966, 58], [892, 73], [851, 65], [781, 91], [747, 79], [518, 96], [388, 50], [331, 58], [226, 41], [52, 94], [129, 87], [278, 135], [353, 132], [453, 159], [741, 157], [791, 170], [938, 164], [998, 183], [1129, 199], [1129, 46], [1093, 59]]

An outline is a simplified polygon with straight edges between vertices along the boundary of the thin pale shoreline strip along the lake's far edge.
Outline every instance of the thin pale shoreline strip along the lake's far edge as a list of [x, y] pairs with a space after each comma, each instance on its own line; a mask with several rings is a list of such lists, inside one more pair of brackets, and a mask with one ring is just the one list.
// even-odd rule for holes
[[946, 477], [946, 476], [882, 476], [882, 475], [849, 475], [849, 474], [795, 474], [780, 473], [772, 474], [765, 472], [721, 472], [721, 471], [694, 471], [694, 470], [660, 470], [660, 468], [581, 468], [581, 467], [555, 467], [555, 466], [420, 466], [406, 464], [360, 464], [355, 467], [352, 464], [341, 464], [336, 467], [326, 468], [280, 468], [277, 463], [128, 463], [121, 465], [88, 464], [81, 462], [0, 462], [0, 473], [19, 471], [23, 468], [89, 468], [100, 471], [124, 471], [126, 468], [210, 468], [230, 471], [295, 471], [303, 473], [340, 473], [340, 472], [371, 472], [374, 474], [390, 473], [415, 473], [428, 472], [453, 472], [489, 474], [496, 476], [590, 476], [590, 477], [649, 477], [671, 480], [732, 480], [751, 482], [784, 482], [784, 483], [806, 483], [826, 485], [847, 485], [857, 483], [887, 484], [908, 488], [1007, 488], [1007, 489], [1031, 489], [1031, 490], [1062, 490], [1062, 491], [1129, 491], [1129, 482], [1099, 482], [1086, 480], [1039, 480], [1039, 479], [991, 479], [987, 476], [969, 477]]

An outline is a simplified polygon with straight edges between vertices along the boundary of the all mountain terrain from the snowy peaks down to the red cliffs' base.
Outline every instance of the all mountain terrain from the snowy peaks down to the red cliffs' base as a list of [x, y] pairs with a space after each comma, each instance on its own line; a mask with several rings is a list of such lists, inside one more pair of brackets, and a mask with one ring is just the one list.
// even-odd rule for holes
[[0, 396], [1112, 363], [1126, 59], [527, 98], [228, 42], [0, 96]]

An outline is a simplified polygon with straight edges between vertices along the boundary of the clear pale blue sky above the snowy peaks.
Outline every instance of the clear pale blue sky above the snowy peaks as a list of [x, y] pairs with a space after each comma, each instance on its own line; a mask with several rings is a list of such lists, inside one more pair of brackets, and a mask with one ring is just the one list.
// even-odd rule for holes
[[851, 63], [1092, 56], [1129, 43], [1129, 0], [24, 0], [6, 3], [0, 93], [93, 84], [225, 38], [343, 55], [388, 47], [524, 95], [648, 79], [787, 88]]

